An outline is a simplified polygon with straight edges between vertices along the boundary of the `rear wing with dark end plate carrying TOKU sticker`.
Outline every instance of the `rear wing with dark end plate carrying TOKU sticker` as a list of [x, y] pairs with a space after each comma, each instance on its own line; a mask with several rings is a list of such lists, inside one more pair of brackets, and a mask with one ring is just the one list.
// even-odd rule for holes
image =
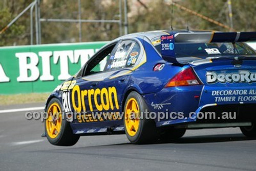
[[161, 55], [164, 60], [182, 64], [175, 55], [175, 43], [222, 43], [256, 41], [256, 32], [176, 33], [161, 36]]

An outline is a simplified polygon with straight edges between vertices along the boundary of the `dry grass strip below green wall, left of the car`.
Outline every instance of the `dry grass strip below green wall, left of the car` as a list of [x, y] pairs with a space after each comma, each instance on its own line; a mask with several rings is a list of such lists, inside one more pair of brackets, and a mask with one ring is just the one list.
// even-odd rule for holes
[[50, 93], [0, 95], [0, 106], [46, 102]]

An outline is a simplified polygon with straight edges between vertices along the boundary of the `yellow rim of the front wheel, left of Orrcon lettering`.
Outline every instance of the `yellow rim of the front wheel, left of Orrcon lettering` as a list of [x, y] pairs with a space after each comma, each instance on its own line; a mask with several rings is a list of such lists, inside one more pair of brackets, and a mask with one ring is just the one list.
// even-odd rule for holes
[[56, 138], [60, 132], [61, 128], [61, 109], [59, 104], [53, 103], [48, 111], [48, 118], [46, 119], [46, 130], [47, 134], [51, 138]]

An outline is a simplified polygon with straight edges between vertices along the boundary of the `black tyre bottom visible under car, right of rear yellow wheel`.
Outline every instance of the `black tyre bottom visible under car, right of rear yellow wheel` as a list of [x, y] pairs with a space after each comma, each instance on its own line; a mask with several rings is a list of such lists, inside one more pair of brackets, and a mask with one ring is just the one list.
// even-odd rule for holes
[[175, 129], [173, 127], [166, 127], [162, 129], [160, 140], [174, 141], [181, 138], [186, 133], [186, 129]]

